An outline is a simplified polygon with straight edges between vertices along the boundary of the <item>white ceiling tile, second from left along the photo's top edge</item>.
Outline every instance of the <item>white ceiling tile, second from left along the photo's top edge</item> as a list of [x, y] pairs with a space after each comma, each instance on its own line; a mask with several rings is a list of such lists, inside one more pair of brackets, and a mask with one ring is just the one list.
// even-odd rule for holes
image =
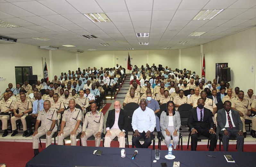
[[38, 16], [57, 14], [37, 1], [14, 2], [13, 4]]

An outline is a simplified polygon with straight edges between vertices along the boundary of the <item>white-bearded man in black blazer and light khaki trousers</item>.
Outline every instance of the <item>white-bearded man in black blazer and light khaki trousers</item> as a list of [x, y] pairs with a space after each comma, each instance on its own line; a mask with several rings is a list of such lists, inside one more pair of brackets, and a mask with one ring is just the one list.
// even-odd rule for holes
[[111, 141], [117, 136], [119, 141], [119, 147], [125, 147], [125, 132], [128, 129], [128, 116], [124, 110], [121, 109], [119, 101], [114, 102], [113, 110], [108, 111], [107, 123], [106, 123], [106, 135], [105, 135], [105, 147], [110, 147]]

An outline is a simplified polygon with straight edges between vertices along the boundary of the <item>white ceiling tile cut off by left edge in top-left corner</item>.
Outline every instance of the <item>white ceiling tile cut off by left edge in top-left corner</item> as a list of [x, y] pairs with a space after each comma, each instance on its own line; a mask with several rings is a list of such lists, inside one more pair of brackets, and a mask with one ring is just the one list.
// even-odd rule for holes
[[0, 11], [3, 11], [16, 17], [35, 16], [33, 13], [25, 11], [11, 3], [1, 3]]

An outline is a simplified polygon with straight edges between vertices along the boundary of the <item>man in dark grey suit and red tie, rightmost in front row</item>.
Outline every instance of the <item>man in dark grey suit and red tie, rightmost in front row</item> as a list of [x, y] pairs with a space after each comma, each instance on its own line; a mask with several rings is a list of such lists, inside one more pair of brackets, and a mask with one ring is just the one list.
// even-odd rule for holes
[[217, 134], [222, 136], [224, 151], [228, 151], [230, 136], [236, 139], [237, 151], [243, 151], [243, 123], [238, 111], [231, 110], [231, 102], [224, 102], [224, 109], [218, 110], [217, 115]]

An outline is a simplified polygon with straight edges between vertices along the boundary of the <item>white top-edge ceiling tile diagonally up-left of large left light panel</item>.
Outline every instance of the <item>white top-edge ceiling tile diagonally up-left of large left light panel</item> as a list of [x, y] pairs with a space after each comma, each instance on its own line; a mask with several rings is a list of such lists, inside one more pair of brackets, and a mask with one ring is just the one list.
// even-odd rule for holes
[[73, 8], [73, 6], [71, 6], [65, 0], [43, 0], [39, 2], [59, 14], [79, 13], [79, 11]]

